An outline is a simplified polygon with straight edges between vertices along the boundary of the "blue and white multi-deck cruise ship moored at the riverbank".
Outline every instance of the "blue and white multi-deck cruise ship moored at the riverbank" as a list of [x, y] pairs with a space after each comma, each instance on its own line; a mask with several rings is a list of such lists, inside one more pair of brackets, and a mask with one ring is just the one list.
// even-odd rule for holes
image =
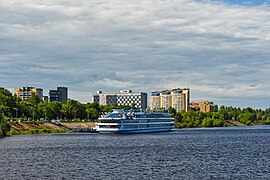
[[175, 122], [164, 111], [134, 112], [114, 110], [99, 118], [96, 131], [100, 133], [146, 133], [171, 131]]

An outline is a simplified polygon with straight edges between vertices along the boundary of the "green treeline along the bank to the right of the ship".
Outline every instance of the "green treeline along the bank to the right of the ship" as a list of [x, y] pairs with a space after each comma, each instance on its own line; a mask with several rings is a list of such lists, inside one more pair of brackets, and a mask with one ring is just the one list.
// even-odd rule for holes
[[235, 108], [221, 106], [216, 112], [188, 111], [176, 113], [170, 110], [175, 117], [176, 128], [191, 127], [223, 127], [232, 126], [237, 123], [244, 125], [266, 125], [270, 124], [270, 109]]

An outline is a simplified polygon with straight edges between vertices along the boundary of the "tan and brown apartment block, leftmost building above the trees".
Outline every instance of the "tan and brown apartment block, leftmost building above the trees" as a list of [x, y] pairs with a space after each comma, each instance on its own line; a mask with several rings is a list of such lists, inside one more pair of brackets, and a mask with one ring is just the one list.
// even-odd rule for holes
[[31, 98], [33, 95], [37, 96], [39, 99], [43, 97], [43, 89], [34, 88], [34, 87], [23, 87], [23, 88], [15, 88], [14, 94], [21, 98], [22, 100], [26, 100]]

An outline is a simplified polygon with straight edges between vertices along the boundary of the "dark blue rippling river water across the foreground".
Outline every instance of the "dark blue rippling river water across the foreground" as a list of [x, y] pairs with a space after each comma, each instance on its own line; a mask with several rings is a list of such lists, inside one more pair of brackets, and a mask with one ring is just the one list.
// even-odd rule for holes
[[0, 179], [270, 179], [270, 126], [0, 139]]

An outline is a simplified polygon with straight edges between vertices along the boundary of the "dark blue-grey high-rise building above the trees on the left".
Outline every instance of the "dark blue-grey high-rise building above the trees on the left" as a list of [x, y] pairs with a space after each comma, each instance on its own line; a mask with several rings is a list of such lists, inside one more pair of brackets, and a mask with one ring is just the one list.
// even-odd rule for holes
[[66, 103], [68, 100], [68, 88], [67, 87], [57, 87], [56, 90], [49, 91], [50, 102], [58, 101]]

